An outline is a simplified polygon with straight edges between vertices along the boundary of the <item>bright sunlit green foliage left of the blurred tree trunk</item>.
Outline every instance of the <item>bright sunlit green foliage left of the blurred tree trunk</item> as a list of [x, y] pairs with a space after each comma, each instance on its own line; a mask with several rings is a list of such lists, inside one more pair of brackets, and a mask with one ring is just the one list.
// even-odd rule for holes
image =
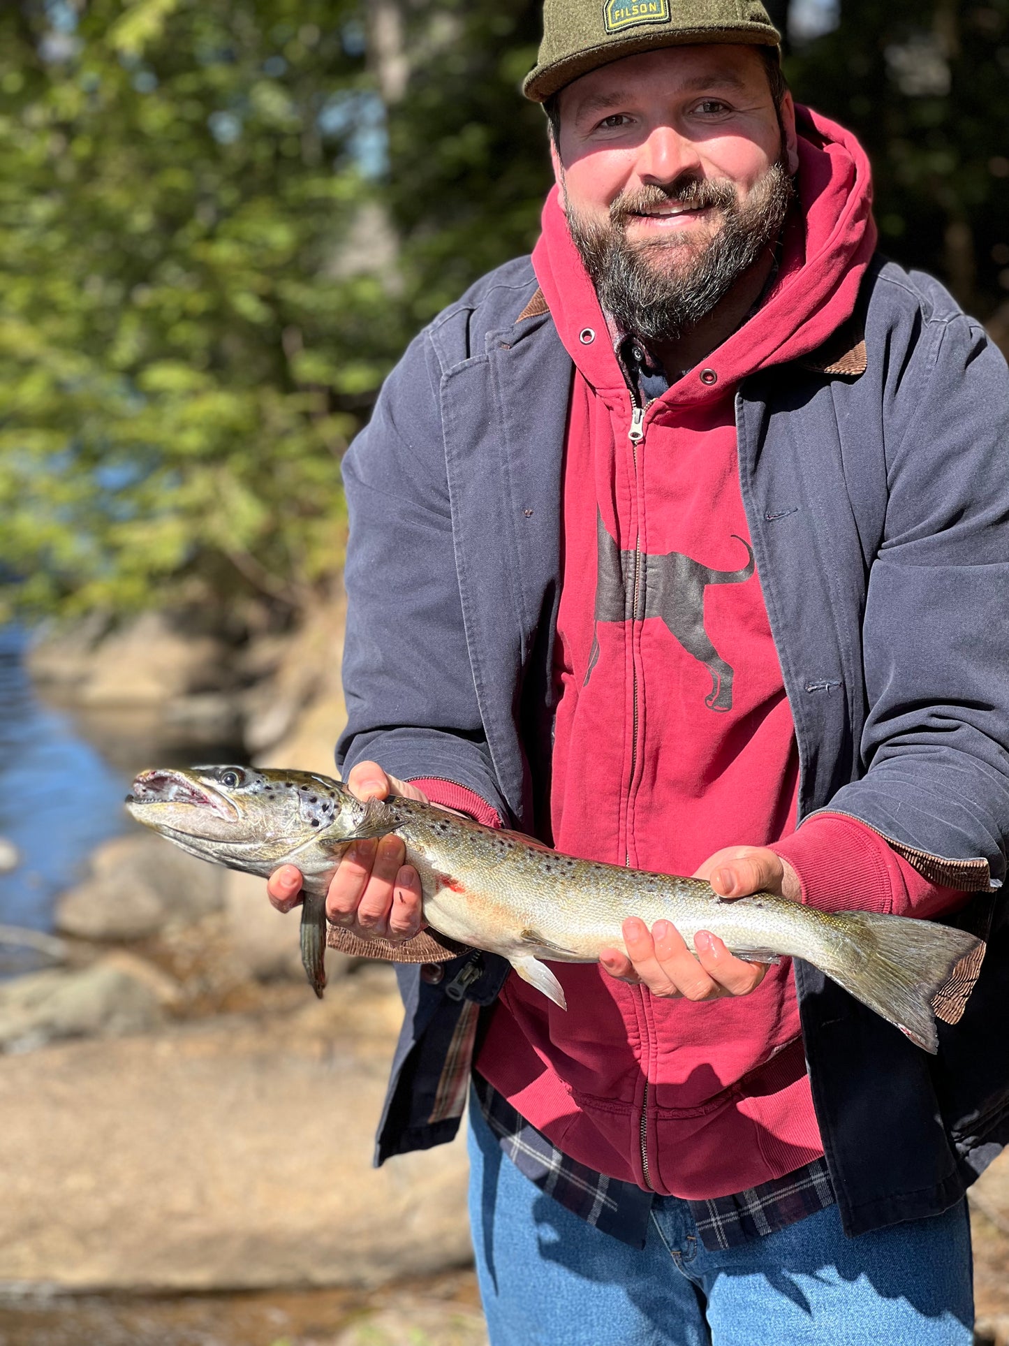
[[[402, 339], [340, 252], [371, 190], [357, 5], [0, 13], [0, 563], [23, 607], [339, 567], [339, 458]], [[350, 268], [352, 271], [352, 268]]]

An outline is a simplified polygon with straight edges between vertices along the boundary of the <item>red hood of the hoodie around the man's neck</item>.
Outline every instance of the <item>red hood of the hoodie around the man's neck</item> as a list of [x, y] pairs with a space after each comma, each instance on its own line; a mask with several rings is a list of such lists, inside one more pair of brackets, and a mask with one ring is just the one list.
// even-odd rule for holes
[[[809, 108], [796, 108], [798, 202], [784, 226], [774, 288], [757, 312], [705, 359], [718, 389], [685, 376], [666, 397], [681, 404], [724, 393], [726, 384], [817, 350], [854, 311], [865, 268], [876, 249], [872, 175], [856, 137]], [[558, 188], [544, 206], [542, 234], [533, 252], [539, 288], [557, 331], [581, 374], [600, 393], [626, 392], [605, 318], [568, 230]]]

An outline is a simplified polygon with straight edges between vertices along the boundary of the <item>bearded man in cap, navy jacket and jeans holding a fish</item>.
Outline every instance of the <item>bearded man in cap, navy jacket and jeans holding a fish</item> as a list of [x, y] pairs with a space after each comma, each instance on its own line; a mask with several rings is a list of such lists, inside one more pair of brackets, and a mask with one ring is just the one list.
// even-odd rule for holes
[[[474, 1070], [495, 1346], [971, 1339], [963, 1193], [1009, 1102], [1009, 378], [876, 256], [865, 156], [778, 40], [749, 0], [548, 0], [531, 262], [414, 341], [347, 455], [338, 759], [726, 898], [942, 914], [987, 965], [935, 1062], [666, 922], [554, 965], [566, 1014], [488, 956], [401, 966], [378, 1159], [449, 1139]], [[396, 837], [328, 913], [410, 950]]]

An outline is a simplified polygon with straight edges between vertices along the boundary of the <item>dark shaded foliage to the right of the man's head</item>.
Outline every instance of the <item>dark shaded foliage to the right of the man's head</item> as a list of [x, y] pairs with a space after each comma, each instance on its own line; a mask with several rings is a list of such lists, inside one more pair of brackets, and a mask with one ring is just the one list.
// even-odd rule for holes
[[1009, 349], [1009, 0], [841, 0], [839, 27], [786, 67], [868, 149], [883, 250]]

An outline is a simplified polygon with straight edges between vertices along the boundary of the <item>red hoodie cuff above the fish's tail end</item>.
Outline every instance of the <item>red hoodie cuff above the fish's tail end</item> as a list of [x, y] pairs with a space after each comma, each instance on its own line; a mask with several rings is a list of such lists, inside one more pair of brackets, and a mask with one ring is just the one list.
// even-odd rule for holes
[[969, 894], [930, 883], [858, 818], [818, 813], [770, 847], [795, 870], [802, 902], [821, 911], [918, 918], [962, 906]]

